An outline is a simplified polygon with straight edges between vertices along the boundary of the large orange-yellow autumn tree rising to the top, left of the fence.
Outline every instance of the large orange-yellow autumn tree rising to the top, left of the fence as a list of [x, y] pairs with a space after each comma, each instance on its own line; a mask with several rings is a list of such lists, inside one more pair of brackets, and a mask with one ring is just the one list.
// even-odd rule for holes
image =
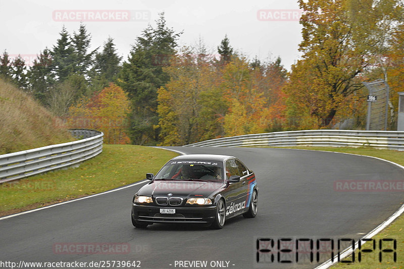
[[300, 122], [296, 128], [329, 127], [341, 102], [363, 87], [357, 76], [369, 65], [367, 51], [354, 42], [347, 1], [300, 0], [299, 6], [303, 56], [285, 87], [287, 113]]

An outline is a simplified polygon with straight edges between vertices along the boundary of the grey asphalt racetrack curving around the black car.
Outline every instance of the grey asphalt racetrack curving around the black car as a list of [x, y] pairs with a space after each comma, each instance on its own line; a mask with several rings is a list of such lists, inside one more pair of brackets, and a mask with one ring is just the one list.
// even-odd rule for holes
[[[140, 261], [141, 268], [185, 268], [199, 264], [183, 263], [180, 267], [176, 261], [201, 260], [208, 262], [208, 268], [225, 267], [227, 262], [229, 268], [301, 268], [302, 264], [256, 263], [257, 238], [359, 239], [391, 216], [404, 198], [402, 192], [334, 190], [338, 180], [404, 179], [404, 171], [373, 158], [294, 149], [172, 148], [240, 158], [258, 179], [258, 216], [234, 218], [222, 230], [174, 224], [135, 229], [130, 221], [131, 199], [140, 184], [1, 220], [0, 261], [88, 264], [119, 260]], [[118, 243], [123, 249], [115, 247], [108, 254], [65, 254], [56, 249], [71, 243]], [[224, 263], [211, 264], [214, 261]]]

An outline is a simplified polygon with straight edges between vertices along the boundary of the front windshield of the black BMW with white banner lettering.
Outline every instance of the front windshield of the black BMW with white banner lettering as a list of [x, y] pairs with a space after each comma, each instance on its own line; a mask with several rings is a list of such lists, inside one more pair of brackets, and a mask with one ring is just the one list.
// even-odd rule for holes
[[155, 180], [223, 181], [223, 163], [210, 160], [172, 160], [157, 173]]

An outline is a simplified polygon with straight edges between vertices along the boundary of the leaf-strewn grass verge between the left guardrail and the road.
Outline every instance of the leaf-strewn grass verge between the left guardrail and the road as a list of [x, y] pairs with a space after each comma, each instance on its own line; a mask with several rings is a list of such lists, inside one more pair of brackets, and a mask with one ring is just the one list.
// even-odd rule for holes
[[157, 173], [175, 152], [104, 144], [103, 153], [78, 168], [57, 170], [0, 185], [0, 216], [104, 192]]

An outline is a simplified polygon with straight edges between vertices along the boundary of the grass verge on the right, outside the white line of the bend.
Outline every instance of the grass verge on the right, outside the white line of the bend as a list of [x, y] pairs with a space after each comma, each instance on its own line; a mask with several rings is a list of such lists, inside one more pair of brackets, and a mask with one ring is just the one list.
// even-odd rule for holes
[[[335, 151], [335, 152], [344, 152], [344, 153], [352, 153], [359, 155], [367, 155], [378, 157], [386, 160], [390, 160], [396, 164], [404, 166], [404, 151], [396, 151], [396, 150], [388, 150], [388, 149], [375, 149], [371, 147], [360, 147], [360, 148], [351, 148], [351, 147], [287, 147], [287, 148], [296, 148], [296, 149], [310, 149], [310, 150], [325, 150], [325, 151]], [[331, 266], [331, 268], [349, 268], [349, 269], [357, 269], [357, 268], [404, 268], [404, 216], [399, 216], [392, 224], [386, 227], [383, 231], [378, 233], [372, 239], [376, 242], [376, 249], [369, 253], [361, 253], [362, 260], [358, 262], [358, 250], [355, 251], [355, 262], [353, 263], [336, 263]], [[396, 244], [396, 254], [397, 260], [393, 261], [393, 253], [383, 253], [382, 254], [382, 262], [379, 261], [379, 241], [381, 239], [395, 239]], [[362, 246], [362, 249], [373, 249], [373, 242], [367, 242]], [[392, 242], [382, 242], [383, 249], [393, 249]], [[344, 259], [345, 261], [351, 261], [352, 256]]]

